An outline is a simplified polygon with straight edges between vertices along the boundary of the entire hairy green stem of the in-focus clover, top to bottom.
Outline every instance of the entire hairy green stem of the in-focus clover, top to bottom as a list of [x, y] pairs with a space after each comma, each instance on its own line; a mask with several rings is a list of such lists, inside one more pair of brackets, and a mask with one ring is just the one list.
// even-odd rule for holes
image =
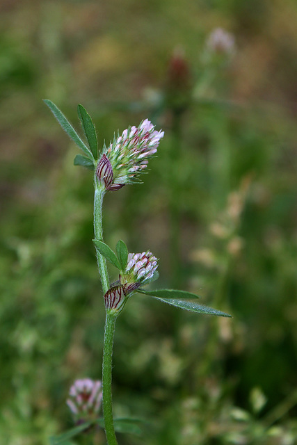
[[[94, 233], [95, 239], [103, 242], [103, 224], [102, 224], [102, 204], [105, 190], [101, 184], [97, 184], [95, 178], [95, 197], [94, 197]], [[107, 271], [106, 259], [97, 252], [97, 264], [102, 281], [102, 289], [105, 294], [109, 290], [109, 273]], [[115, 430], [113, 426], [113, 405], [111, 396], [111, 366], [113, 360], [113, 335], [115, 332], [115, 316], [106, 312], [105, 334], [103, 346], [103, 364], [102, 364], [102, 394], [103, 394], [103, 415], [106, 439], [109, 445], [117, 445]]]

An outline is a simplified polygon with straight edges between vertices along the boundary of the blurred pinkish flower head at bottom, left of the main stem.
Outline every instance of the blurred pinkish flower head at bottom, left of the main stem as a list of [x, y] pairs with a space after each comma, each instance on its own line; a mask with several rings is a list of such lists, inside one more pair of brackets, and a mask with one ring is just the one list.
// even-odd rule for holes
[[94, 419], [101, 407], [102, 383], [84, 378], [76, 380], [70, 388], [67, 405], [77, 422]]

